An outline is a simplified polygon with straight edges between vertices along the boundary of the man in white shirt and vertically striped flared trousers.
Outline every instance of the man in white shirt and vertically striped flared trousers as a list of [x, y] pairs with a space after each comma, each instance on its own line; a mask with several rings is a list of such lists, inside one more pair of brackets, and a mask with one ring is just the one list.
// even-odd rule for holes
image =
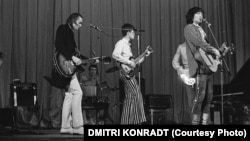
[[[135, 28], [131, 24], [124, 24], [122, 26], [123, 38], [116, 44], [112, 53], [112, 57], [119, 63], [121, 67], [120, 78], [124, 84], [125, 100], [123, 102], [123, 110], [121, 115], [121, 124], [141, 124], [146, 121], [143, 98], [140, 87], [131, 73], [137, 64], [137, 59], [133, 57], [130, 41], [135, 38]], [[145, 56], [148, 56], [149, 53]], [[145, 56], [139, 59], [141, 63]], [[126, 68], [126, 70], [123, 70]]]

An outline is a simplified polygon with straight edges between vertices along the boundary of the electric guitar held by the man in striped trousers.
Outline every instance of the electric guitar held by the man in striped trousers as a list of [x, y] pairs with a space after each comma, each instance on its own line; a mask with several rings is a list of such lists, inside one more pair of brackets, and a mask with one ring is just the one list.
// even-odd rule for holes
[[[130, 58], [131, 61], [134, 61], [136, 65], [140, 64], [140, 60], [145, 57], [150, 55], [153, 52], [152, 47], [147, 46], [146, 50], [140, 55], [138, 56], [136, 59], [134, 59], [133, 57]], [[126, 64], [120, 63], [120, 69], [123, 72], [123, 74], [125, 74], [125, 76], [127, 78], [131, 78], [132, 76], [134, 76], [134, 69], [133, 67], [130, 67]]]

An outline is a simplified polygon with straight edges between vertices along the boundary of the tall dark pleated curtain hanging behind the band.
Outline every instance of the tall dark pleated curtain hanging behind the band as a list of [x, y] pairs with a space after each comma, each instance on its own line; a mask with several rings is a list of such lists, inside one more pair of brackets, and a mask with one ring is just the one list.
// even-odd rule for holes
[[[193, 6], [205, 10], [219, 45], [226, 41], [236, 47], [236, 53], [225, 58], [232, 73], [224, 73], [228, 83], [250, 55], [249, 0], [0, 0], [0, 51], [5, 53], [0, 69], [0, 107], [11, 106], [9, 86], [13, 79], [37, 83], [40, 118], [60, 125], [63, 91], [52, 87], [44, 76], [51, 76], [57, 27], [71, 13], [79, 12], [84, 26], [75, 38], [81, 53], [88, 57], [93, 51], [96, 56], [111, 56], [124, 23], [145, 30], [133, 42], [135, 56], [147, 45], [154, 49], [142, 64], [145, 94], [171, 95], [169, 119], [181, 123], [186, 95], [171, 62], [178, 44], [184, 41], [185, 14]], [[91, 29], [90, 23], [100, 26], [103, 33]], [[203, 27], [215, 45], [208, 28]], [[111, 88], [119, 87], [118, 72], [105, 73], [115, 61], [98, 65], [101, 80]], [[220, 73], [214, 78], [219, 84]], [[109, 99], [110, 115], [118, 123], [119, 91], [112, 91]]]

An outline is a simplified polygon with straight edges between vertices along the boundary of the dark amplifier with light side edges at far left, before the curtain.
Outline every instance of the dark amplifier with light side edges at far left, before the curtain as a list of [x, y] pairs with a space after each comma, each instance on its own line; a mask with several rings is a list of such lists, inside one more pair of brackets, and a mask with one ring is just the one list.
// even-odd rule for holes
[[34, 106], [37, 100], [36, 83], [11, 83], [10, 103], [12, 106]]

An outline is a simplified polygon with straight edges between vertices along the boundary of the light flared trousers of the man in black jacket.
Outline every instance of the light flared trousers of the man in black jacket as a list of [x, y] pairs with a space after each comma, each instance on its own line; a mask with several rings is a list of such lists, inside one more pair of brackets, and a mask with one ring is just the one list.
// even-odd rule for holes
[[62, 128], [77, 128], [83, 126], [82, 89], [74, 74], [68, 91], [65, 92], [62, 109]]

